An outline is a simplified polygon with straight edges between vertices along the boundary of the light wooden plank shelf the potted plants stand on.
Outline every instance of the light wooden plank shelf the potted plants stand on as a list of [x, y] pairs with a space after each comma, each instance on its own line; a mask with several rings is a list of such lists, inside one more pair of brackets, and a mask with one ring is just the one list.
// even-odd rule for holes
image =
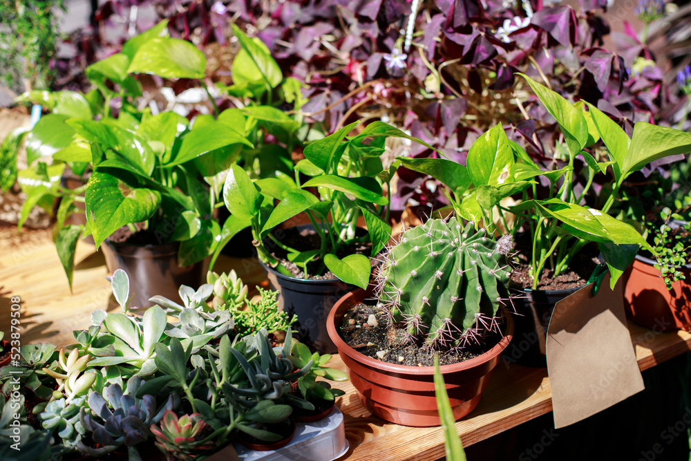
[[[115, 310], [106, 269], [93, 245], [77, 245], [74, 290], [55, 252], [49, 231], [0, 227], [0, 330], [10, 332], [10, 304], [21, 299], [21, 341], [52, 342], [59, 346], [74, 341], [72, 330], [86, 328], [93, 310]], [[220, 259], [216, 270], [234, 268], [250, 287], [265, 283], [261, 265], [253, 261]], [[16, 299], [15, 299], [16, 301]], [[691, 349], [688, 332], [656, 333], [629, 325], [641, 370], [656, 366]], [[332, 366], [345, 370], [335, 357]], [[341, 460], [436, 460], [444, 456], [444, 435], [438, 427], [413, 428], [389, 424], [363, 408], [349, 382], [336, 383], [346, 392], [338, 406], [345, 417], [350, 449]], [[545, 368], [511, 366], [503, 361], [495, 368], [480, 405], [456, 423], [464, 445], [480, 442], [535, 417], [549, 413], [551, 393]]]

